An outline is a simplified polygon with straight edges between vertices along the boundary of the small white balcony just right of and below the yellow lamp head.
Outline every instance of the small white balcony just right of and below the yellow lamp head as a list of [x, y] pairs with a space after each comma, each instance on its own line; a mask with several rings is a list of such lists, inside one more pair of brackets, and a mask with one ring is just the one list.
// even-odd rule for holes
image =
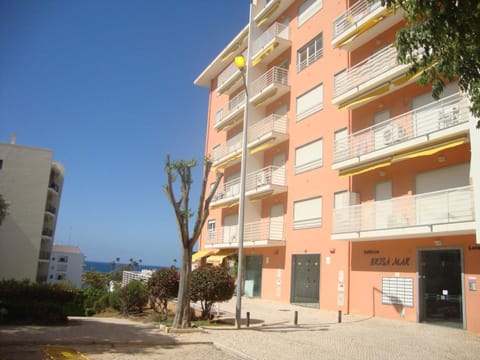
[[255, 105], [268, 105], [290, 91], [288, 70], [275, 66], [252, 82], [250, 102]]

